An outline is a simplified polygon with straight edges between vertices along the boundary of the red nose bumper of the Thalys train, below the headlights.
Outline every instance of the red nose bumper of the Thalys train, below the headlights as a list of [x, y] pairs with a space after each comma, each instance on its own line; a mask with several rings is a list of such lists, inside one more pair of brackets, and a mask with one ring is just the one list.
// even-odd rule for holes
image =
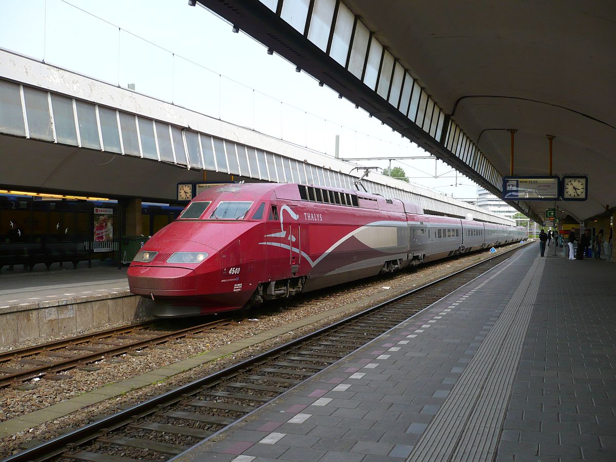
[[197, 293], [197, 275], [192, 269], [131, 265], [127, 275], [134, 294], [177, 297]]

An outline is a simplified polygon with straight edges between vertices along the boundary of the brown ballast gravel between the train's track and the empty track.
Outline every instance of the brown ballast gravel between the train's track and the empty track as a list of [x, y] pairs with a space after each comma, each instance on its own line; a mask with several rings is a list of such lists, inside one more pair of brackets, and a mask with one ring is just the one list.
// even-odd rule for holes
[[[519, 244], [503, 249], [513, 246], [519, 246]], [[353, 312], [359, 312], [374, 304], [374, 299], [371, 302], [366, 300], [368, 297], [379, 294], [378, 299], [384, 301], [397, 294], [405, 293], [412, 289], [413, 286], [424, 285], [445, 275], [452, 274], [463, 267], [468, 267], [488, 259], [491, 256], [492, 254], [488, 252], [461, 256], [456, 259], [419, 266], [416, 269], [406, 269], [392, 275], [369, 278], [359, 283], [355, 282], [353, 285], [337, 286], [329, 290], [305, 294], [295, 299], [289, 299], [283, 304], [278, 302], [274, 309], [266, 306], [262, 310], [253, 310], [243, 320], [234, 322], [232, 330], [208, 333], [208, 338], [206, 339], [187, 337], [178, 341], [167, 342], [161, 347], [144, 349], [143, 352], [147, 355], [128, 354], [105, 359], [92, 363], [92, 365], [100, 368], [97, 371], [88, 372], [73, 369], [65, 372], [67, 378], [59, 381], [45, 379], [35, 382], [30, 381], [30, 383], [36, 383], [37, 385], [36, 388], [31, 390], [18, 390], [11, 387], [4, 388], [0, 395], [0, 421], [49, 407], [55, 403], [93, 391], [116, 381], [147, 373], [156, 368], [193, 357], [201, 352], [230, 344], [233, 341], [248, 338], [272, 328], [288, 325], [307, 316], [322, 315], [321, 320], [317, 323], [288, 332], [277, 338], [271, 338], [261, 344], [219, 358], [192, 370], [179, 373], [167, 379], [164, 383], [151, 384], [121, 396], [89, 405], [70, 415], [47, 421], [28, 431], [18, 432], [14, 436], [6, 437], [0, 440], [0, 457], [20, 452], [23, 449], [20, 446], [28, 445], [28, 442], [31, 440], [44, 441], [59, 436], [73, 428], [78, 428], [94, 421], [101, 416], [110, 415], [119, 408], [125, 408], [131, 404], [149, 399], [153, 395], [160, 394], [165, 389], [209, 375], [214, 371], [238, 362], [238, 360], [267, 351], [277, 344], [291, 341], [291, 339], [298, 338], [317, 328], [330, 325], [338, 320], [338, 318], [347, 317]], [[337, 316], [328, 315], [328, 310], [347, 304], [354, 304], [354, 306], [350, 307], [344, 314]], [[46, 341], [51, 340], [46, 339]], [[26, 345], [22, 344], [18, 347], [23, 346]]]

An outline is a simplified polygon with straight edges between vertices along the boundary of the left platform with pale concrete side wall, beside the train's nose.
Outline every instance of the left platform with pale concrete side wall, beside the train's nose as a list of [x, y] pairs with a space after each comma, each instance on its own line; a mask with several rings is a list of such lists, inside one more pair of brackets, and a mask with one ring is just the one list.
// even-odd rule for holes
[[0, 349], [21, 347], [132, 323], [147, 317], [140, 297], [131, 294], [127, 267], [110, 261], [37, 265], [33, 271], [15, 266], [0, 275]]

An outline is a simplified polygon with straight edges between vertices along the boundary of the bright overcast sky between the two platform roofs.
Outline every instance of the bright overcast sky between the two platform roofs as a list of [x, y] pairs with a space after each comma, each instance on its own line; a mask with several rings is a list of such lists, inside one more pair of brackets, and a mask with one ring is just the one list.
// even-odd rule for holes
[[[0, 47], [341, 157], [427, 155], [246, 34], [185, 0], [1, 0]], [[365, 161], [387, 167], [388, 161]], [[458, 198], [476, 185], [440, 161], [394, 161]], [[432, 177], [439, 175], [438, 179]]]

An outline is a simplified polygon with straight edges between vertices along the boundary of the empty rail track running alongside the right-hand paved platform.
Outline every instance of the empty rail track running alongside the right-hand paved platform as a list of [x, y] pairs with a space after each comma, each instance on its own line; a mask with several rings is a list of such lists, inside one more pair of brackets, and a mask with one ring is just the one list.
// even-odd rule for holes
[[505, 261], [512, 249], [5, 462], [168, 460]]

